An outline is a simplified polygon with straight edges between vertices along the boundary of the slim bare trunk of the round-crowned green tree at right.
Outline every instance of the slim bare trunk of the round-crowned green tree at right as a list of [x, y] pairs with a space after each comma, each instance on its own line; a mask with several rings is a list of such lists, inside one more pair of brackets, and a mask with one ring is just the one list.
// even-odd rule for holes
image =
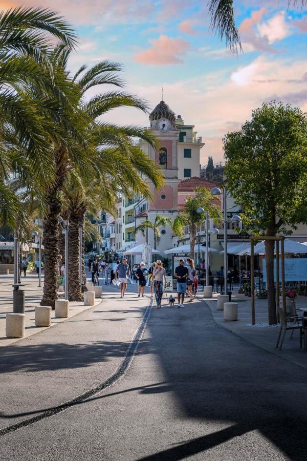
[[[268, 230], [267, 235], [274, 236], [275, 232]], [[277, 323], [276, 296], [274, 286], [274, 243], [274, 240], [265, 240], [269, 325], [275, 325]]]

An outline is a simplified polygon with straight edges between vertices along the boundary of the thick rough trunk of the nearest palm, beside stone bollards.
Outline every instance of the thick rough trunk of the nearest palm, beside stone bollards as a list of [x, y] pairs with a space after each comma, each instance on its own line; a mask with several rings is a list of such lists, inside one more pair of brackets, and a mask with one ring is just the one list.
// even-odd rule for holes
[[42, 306], [51, 306], [58, 299], [57, 277], [58, 277], [58, 239], [59, 239], [59, 216], [61, 202], [58, 193], [53, 192], [47, 198], [49, 209], [48, 216], [43, 221], [43, 246], [45, 248], [45, 277], [43, 283], [43, 297], [40, 302]]

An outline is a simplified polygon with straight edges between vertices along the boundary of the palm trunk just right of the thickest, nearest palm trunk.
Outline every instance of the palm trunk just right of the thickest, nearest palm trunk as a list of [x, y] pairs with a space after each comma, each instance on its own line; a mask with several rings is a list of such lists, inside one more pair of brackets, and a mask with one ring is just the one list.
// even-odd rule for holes
[[79, 215], [75, 213], [70, 214], [68, 244], [68, 300], [82, 301], [81, 283], [79, 276]]

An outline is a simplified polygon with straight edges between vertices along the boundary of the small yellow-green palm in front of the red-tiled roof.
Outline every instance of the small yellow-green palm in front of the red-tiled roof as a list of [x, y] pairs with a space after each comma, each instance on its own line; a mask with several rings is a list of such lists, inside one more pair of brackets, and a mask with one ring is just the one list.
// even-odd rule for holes
[[216, 198], [213, 198], [205, 187], [196, 187], [195, 196], [186, 199], [185, 204], [180, 209], [172, 225], [173, 233], [178, 237], [182, 237], [184, 235], [185, 226], [189, 226], [190, 254], [192, 258], [194, 256], [194, 247], [196, 243], [196, 227], [200, 226], [204, 220], [203, 215], [197, 212], [199, 207], [208, 211], [209, 217], [214, 221], [221, 221], [223, 218], [221, 205], [219, 206], [216, 204]]

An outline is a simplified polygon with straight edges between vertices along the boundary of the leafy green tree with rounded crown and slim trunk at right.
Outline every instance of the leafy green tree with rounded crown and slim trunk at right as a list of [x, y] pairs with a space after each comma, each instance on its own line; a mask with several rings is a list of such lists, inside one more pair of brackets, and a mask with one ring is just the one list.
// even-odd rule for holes
[[[230, 193], [254, 231], [276, 236], [307, 222], [307, 117], [275, 101], [252, 112], [240, 131], [224, 138]], [[269, 323], [275, 324], [274, 241], [266, 241]]]

